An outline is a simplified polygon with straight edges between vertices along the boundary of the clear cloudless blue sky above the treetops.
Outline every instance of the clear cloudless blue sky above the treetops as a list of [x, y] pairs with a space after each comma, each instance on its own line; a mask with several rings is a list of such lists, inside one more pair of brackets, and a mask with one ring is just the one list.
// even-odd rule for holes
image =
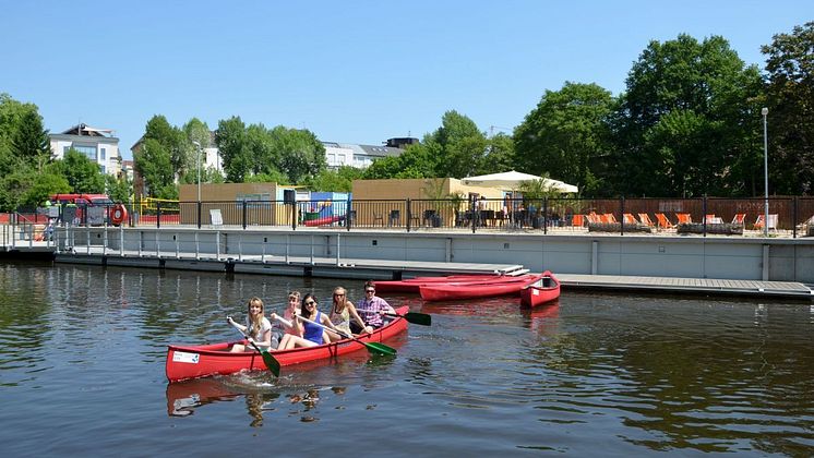
[[153, 114], [211, 129], [240, 116], [320, 140], [381, 144], [451, 109], [511, 132], [547, 89], [618, 95], [647, 44], [761, 45], [814, 20], [811, 0], [0, 2], [0, 93], [45, 125], [113, 129], [125, 158]]

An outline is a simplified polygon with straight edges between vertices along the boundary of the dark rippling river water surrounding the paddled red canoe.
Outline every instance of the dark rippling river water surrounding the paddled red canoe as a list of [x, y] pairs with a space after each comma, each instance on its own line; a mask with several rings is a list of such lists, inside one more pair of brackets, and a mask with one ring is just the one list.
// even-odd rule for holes
[[[570, 293], [422, 304], [433, 326], [267, 373], [166, 382], [251, 296], [361, 281], [0, 264], [2, 456], [814, 454], [807, 303]], [[325, 308], [323, 301], [323, 308]]]

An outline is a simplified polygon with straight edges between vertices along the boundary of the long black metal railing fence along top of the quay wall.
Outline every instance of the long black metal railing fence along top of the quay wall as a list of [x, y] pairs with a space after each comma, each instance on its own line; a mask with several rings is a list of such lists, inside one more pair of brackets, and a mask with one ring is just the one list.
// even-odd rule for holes
[[[244, 201], [29, 208], [15, 219], [40, 225], [130, 227], [301, 227], [340, 230], [467, 230], [530, 233], [744, 234], [766, 230], [763, 198], [480, 198]], [[811, 236], [814, 197], [771, 197], [768, 233]]]

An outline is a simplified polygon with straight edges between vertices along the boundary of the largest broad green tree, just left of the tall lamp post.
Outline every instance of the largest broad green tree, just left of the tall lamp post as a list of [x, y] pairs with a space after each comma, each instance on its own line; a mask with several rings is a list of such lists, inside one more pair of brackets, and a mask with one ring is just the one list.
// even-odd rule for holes
[[753, 188], [751, 100], [759, 73], [726, 39], [651, 41], [612, 116], [608, 180], [617, 193], [735, 195]]

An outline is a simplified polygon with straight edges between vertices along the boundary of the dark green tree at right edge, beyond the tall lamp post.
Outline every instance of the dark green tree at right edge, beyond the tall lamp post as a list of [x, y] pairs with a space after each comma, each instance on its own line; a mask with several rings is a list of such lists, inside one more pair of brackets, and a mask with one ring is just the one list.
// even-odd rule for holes
[[[763, 106], [769, 109], [769, 189], [778, 194], [811, 195], [814, 192], [814, 22], [795, 26], [790, 34], [775, 35], [771, 44], [761, 50], [767, 56]], [[753, 116], [759, 119], [757, 111]]]

